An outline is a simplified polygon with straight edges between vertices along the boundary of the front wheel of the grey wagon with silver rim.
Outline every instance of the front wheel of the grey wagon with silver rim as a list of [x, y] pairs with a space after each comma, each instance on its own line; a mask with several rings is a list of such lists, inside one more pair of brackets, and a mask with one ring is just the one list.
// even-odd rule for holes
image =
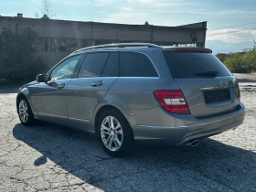
[[34, 114], [31, 110], [29, 102], [27, 101], [27, 98], [21, 97], [18, 99], [17, 113], [22, 124], [31, 126], [36, 123], [36, 119], [34, 118]]

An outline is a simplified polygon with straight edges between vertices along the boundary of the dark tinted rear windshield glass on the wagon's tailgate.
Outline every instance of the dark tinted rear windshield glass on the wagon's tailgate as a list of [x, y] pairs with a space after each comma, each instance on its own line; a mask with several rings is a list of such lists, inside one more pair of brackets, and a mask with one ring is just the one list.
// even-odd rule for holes
[[164, 55], [174, 79], [206, 78], [195, 75], [205, 71], [219, 72], [215, 77], [231, 75], [229, 69], [211, 53], [164, 51]]

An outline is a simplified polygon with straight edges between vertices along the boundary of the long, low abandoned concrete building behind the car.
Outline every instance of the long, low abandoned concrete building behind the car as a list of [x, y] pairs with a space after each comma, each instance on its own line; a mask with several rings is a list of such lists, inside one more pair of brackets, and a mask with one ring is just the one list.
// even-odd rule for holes
[[197, 46], [205, 47], [207, 22], [178, 27], [148, 25], [124, 25], [98, 22], [81, 22], [17, 16], [0, 16], [2, 27], [10, 27], [20, 33], [24, 27], [32, 27], [38, 37], [35, 46], [37, 54], [53, 66], [70, 52], [89, 46], [145, 42], [159, 46]]

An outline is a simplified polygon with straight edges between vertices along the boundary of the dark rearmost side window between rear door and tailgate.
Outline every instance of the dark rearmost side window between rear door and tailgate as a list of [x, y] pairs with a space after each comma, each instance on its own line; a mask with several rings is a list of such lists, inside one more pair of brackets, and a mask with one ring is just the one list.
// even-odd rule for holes
[[158, 77], [151, 61], [141, 53], [120, 53], [121, 77]]

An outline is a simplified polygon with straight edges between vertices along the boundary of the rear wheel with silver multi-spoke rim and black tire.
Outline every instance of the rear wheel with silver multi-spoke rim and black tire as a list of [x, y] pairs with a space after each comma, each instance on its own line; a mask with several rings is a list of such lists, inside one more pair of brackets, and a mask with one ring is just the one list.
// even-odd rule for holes
[[121, 112], [108, 110], [101, 114], [98, 133], [103, 150], [113, 157], [131, 155], [135, 149], [133, 132]]

